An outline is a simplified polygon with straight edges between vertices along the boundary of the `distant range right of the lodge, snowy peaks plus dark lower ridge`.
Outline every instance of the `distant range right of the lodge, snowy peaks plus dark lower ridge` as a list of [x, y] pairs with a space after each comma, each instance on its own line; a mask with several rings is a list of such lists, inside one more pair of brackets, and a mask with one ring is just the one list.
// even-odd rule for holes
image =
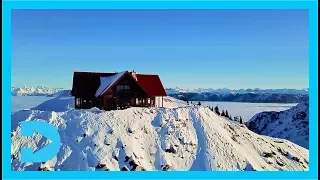
[[168, 88], [169, 96], [189, 101], [299, 103], [309, 99], [309, 89], [181, 89]]

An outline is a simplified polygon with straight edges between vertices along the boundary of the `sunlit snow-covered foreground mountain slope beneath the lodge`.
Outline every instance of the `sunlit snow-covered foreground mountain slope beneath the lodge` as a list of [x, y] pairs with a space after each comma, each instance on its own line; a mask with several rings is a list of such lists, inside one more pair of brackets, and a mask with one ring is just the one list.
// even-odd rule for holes
[[[210, 109], [165, 97], [165, 108], [76, 110], [73, 97], [54, 98], [12, 115], [13, 170], [308, 170], [309, 151], [258, 135]], [[39, 149], [40, 135], [20, 136], [22, 120], [53, 124], [62, 146], [44, 163], [21, 163], [19, 149]]]

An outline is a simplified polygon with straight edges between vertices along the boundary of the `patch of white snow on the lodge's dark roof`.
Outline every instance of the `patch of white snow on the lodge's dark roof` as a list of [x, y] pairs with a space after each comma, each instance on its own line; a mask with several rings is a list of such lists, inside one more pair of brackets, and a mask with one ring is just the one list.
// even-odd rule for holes
[[100, 77], [100, 86], [96, 91], [95, 96], [98, 97], [108, 90], [119, 78], [121, 78], [127, 71], [119, 72], [118, 74]]

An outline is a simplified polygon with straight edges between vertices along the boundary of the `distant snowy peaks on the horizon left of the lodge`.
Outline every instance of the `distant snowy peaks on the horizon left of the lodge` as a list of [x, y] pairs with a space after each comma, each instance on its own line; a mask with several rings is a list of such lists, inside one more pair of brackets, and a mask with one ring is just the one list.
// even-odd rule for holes
[[63, 90], [62, 88], [11, 87], [11, 96], [48, 96]]

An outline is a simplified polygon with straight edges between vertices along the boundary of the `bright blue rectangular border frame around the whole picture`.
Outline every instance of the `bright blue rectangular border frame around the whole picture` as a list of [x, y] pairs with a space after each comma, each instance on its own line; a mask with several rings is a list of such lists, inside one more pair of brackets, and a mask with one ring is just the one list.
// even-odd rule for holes
[[[317, 179], [318, 178], [318, 2], [283, 1], [3, 1], [2, 2], [2, 172], [3, 179]], [[11, 10], [12, 9], [308, 9], [309, 10], [309, 171], [279, 172], [22, 172], [11, 171]]]

